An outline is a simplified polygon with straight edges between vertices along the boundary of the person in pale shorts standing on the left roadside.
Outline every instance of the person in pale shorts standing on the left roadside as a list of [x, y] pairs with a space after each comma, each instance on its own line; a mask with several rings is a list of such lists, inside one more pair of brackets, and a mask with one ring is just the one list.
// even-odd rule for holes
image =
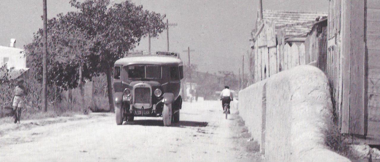
[[12, 107], [14, 114], [14, 123], [17, 123], [17, 121], [20, 122], [21, 109], [24, 107], [24, 97], [26, 94], [23, 79], [17, 80], [17, 86], [14, 87], [13, 93], [14, 95]]

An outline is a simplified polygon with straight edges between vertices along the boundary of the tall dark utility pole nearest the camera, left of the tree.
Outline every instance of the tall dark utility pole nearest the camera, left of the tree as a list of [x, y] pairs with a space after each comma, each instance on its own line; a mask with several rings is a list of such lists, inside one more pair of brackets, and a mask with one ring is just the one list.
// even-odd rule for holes
[[43, 28], [43, 73], [42, 73], [42, 102], [45, 112], [47, 112], [47, 7], [46, 7], [46, 0], [43, 0], [43, 22], [44, 22], [44, 28]]

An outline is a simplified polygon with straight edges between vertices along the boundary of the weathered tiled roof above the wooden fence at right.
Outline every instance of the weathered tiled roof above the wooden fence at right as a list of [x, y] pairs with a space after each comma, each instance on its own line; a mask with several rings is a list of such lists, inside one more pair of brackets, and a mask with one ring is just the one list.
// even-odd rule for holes
[[317, 17], [326, 17], [323, 12], [297, 12], [264, 10], [263, 19], [274, 22], [276, 29], [285, 31], [287, 37], [306, 36]]

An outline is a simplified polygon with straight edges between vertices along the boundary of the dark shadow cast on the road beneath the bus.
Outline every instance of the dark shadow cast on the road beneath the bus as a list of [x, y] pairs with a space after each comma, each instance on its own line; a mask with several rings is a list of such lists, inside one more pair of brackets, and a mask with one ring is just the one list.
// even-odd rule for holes
[[[143, 126], [164, 126], [162, 120], [135, 120], [133, 122], [125, 122], [123, 125], [143, 125]], [[195, 122], [195, 121], [179, 121], [179, 123], [172, 123], [171, 127], [205, 127], [207, 122]]]

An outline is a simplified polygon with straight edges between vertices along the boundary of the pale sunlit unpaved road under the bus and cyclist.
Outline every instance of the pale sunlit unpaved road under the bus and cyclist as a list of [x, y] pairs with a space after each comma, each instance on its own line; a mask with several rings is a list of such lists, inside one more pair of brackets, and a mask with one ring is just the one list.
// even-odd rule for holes
[[257, 161], [236, 108], [229, 119], [220, 101], [187, 103], [180, 123], [135, 117], [116, 125], [114, 114], [59, 118], [58, 122], [21, 121], [0, 125], [0, 161]]

